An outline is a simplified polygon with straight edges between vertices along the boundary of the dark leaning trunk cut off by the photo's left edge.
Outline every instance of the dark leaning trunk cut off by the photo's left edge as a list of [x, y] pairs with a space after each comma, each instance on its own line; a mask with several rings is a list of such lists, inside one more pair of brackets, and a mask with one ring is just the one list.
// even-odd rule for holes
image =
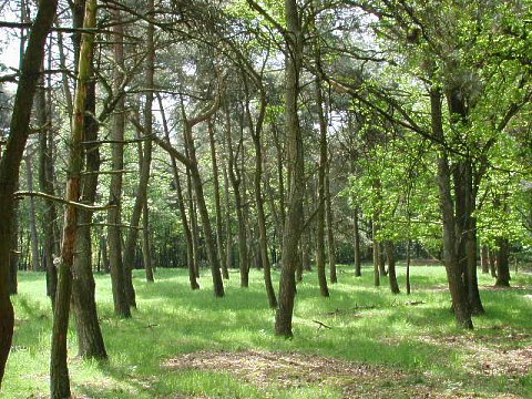
[[14, 315], [9, 298], [9, 265], [13, 229], [14, 191], [28, 141], [30, 114], [39, 81], [44, 43], [52, 27], [57, 0], [41, 0], [32, 24], [13, 103], [10, 133], [0, 160], [0, 386], [13, 336]]

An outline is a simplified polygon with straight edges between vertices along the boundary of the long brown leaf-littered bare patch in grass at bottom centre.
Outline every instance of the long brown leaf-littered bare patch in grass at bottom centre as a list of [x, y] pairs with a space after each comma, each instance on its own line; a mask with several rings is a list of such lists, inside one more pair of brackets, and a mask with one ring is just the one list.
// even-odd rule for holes
[[[266, 389], [332, 386], [344, 398], [481, 398], [452, 381], [433, 381], [429, 375], [408, 375], [383, 366], [369, 366], [328, 357], [264, 350], [197, 351], [167, 360], [171, 369], [229, 372]], [[265, 391], [265, 397], [268, 397]], [[515, 398], [509, 396], [508, 398]]]

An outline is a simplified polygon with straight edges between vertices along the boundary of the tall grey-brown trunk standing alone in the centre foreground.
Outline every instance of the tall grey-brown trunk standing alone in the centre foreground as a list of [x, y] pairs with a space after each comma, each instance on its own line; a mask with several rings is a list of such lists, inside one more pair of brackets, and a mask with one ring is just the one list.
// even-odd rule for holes
[[[275, 315], [275, 334], [291, 337], [291, 318], [296, 296], [295, 269], [299, 256], [305, 165], [303, 135], [299, 126], [298, 93], [303, 60], [303, 32], [295, 0], [285, 0], [287, 55], [285, 55], [285, 123], [289, 178], [288, 208], [283, 231], [283, 268], [279, 280], [279, 305]], [[288, 40], [289, 38], [289, 40]]]

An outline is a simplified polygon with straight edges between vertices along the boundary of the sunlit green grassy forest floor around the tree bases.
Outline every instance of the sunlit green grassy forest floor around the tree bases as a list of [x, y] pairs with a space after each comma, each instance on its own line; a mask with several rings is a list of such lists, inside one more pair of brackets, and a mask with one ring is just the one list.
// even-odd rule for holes
[[[399, 282], [403, 286], [403, 268]], [[298, 285], [294, 339], [273, 334], [262, 274], [238, 287], [232, 273], [216, 299], [206, 270], [191, 291], [182, 269], [160, 269], [156, 283], [135, 274], [139, 309], [112, 313], [109, 276], [96, 276], [110, 360], [83, 361], [70, 331], [73, 391], [81, 398], [532, 398], [532, 276], [492, 289], [480, 276], [487, 315], [472, 332], [456, 328], [442, 267], [415, 267], [410, 296], [372, 287], [340, 267], [331, 296], [320, 298], [315, 273]], [[278, 273], [275, 273], [275, 278]], [[45, 397], [51, 311], [44, 276], [20, 274], [13, 297], [16, 335], [6, 398]], [[420, 304], [411, 305], [412, 301]], [[320, 321], [326, 327], [320, 327]]]

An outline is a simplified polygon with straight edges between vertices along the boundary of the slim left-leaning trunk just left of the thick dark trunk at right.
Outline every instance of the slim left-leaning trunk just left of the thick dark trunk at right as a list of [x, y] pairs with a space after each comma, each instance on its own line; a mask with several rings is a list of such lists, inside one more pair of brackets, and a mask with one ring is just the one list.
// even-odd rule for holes
[[[441, 111], [441, 91], [432, 89], [430, 92], [432, 134], [441, 142], [444, 140]], [[452, 298], [452, 308], [457, 323], [463, 328], [473, 328], [468, 304], [468, 291], [462, 279], [462, 266], [459, 262], [456, 236], [454, 204], [451, 196], [451, 172], [446, 149], [438, 155], [438, 187], [440, 195], [441, 215], [443, 222], [443, 252], [449, 290]]]

